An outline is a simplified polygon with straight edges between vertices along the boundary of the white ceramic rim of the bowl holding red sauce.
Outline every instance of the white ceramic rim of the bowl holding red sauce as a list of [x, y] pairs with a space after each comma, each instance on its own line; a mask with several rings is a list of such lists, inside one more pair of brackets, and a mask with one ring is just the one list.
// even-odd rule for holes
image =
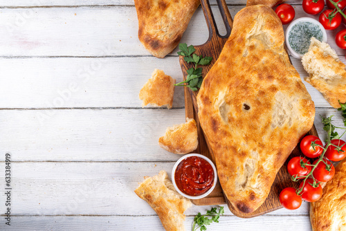
[[[179, 190], [178, 186], [176, 186], [176, 183], [175, 183], [174, 174], [175, 174], [176, 167], [178, 167], [178, 165], [181, 163], [182, 160], [185, 160], [185, 158], [188, 158], [190, 156], [198, 156], [204, 160], [207, 160], [208, 163], [210, 163], [210, 165], [212, 165], [212, 169], [214, 170], [214, 183], [213, 183], [212, 187], [210, 187], [210, 189], [207, 192], [205, 192], [204, 194], [201, 194], [199, 196], [190, 196], [190, 195], [184, 194], [183, 192], [181, 192], [181, 190]], [[172, 183], [174, 185], [176, 192], [179, 192], [179, 194], [181, 194], [182, 196], [185, 196], [186, 198], [189, 198], [189, 199], [200, 199], [200, 198], [208, 196], [210, 194], [210, 192], [212, 192], [212, 190], [214, 190], [215, 185], [217, 184], [217, 169], [216, 169], [214, 163], [212, 163], [212, 160], [210, 160], [206, 156], [203, 156], [201, 154], [188, 154], [188, 155], [181, 157], [178, 161], [176, 161], [176, 163], [172, 169]]]

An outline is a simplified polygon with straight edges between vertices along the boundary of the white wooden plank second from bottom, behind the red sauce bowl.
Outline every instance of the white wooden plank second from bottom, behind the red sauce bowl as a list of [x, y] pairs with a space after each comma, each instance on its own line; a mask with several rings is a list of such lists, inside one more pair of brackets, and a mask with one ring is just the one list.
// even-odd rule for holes
[[[157, 175], [161, 170], [171, 178], [173, 165], [161, 162], [12, 163], [12, 215], [155, 215], [134, 190], [144, 181], [144, 176]], [[5, 163], [0, 166], [3, 170]], [[5, 188], [3, 174], [0, 186]], [[0, 199], [6, 201], [6, 195], [1, 193]], [[231, 215], [224, 206], [225, 214]], [[194, 216], [210, 207], [193, 205], [185, 214]], [[281, 209], [271, 214], [304, 215], [308, 214], [308, 207], [309, 203], [304, 202], [299, 210]]]

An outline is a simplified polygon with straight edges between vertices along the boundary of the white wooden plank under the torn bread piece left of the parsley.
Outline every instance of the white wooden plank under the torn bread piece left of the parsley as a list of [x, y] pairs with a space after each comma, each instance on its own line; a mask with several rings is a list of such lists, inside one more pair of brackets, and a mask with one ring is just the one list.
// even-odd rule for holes
[[[307, 76], [299, 59], [292, 62]], [[178, 57], [0, 58], [0, 66], [0, 108], [142, 107], [138, 93], [154, 68], [183, 80]], [[316, 107], [330, 107], [303, 82]], [[173, 107], [184, 105], [183, 87], [176, 86]]]

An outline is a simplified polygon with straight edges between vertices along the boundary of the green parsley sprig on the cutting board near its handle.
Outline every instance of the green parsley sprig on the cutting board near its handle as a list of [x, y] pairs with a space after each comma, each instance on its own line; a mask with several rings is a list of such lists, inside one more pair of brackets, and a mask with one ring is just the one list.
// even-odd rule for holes
[[[212, 57], [203, 57], [202, 55], [194, 54], [194, 46], [187, 44], [179, 44], [180, 51], [178, 55], [184, 57], [185, 62], [188, 64], [194, 63], [194, 68], [188, 69], [188, 76], [186, 76], [186, 80], [183, 82], [179, 82], [179, 84], [174, 84], [175, 86], [188, 86], [192, 91], [197, 91], [197, 89], [201, 88], [201, 84], [203, 82], [202, 77], [202, 68], [197, 68], [198, 65], [208, 65], [212, 61]], [[192, 55], [192, 56], [191, 56]]]

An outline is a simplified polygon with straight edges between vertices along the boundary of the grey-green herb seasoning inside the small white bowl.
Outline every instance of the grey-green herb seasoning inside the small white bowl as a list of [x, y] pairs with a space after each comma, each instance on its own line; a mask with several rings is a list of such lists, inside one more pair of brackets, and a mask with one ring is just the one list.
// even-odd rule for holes
[[309, 21], [299, 22], [289, 32], [289, 45], [296, 53], [304, 55], [309, 50], [311, 37], [322, 41], [323, 33], [320, 27]]

